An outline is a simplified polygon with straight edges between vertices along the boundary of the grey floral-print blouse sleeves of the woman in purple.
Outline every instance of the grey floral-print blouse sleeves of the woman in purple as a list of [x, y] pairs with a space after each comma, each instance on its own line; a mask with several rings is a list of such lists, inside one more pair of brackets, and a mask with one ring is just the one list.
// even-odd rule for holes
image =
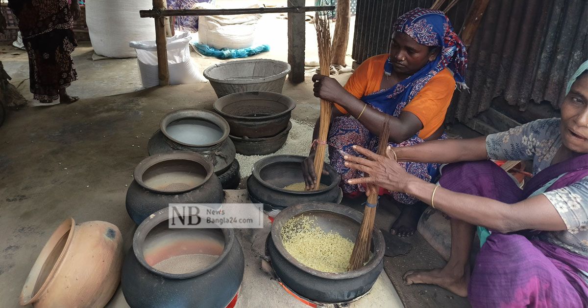
[[[559, 118], [536, 120], [486, 137], [488, 157], [495, 160], [533, 160], [533, 174], [551, 165], [562, 146]], [[588, 177], [567, 187], [544, 192], [567, 231], [543, 232], [542, 238], [588, 256]]]

